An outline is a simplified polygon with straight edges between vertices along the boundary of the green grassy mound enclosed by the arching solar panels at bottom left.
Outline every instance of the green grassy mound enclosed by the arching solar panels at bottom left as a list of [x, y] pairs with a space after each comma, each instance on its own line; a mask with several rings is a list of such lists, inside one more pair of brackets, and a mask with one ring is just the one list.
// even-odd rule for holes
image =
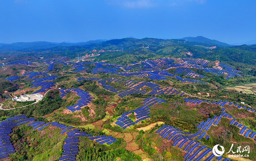
[[33, 130], [30, 126], [21, 125], [15, 127], [11, 135], [12, 138], [14, 134], [21, 136], [24, 140], [15, 141], [14, 146], [18, 147], [20, 153], [12, 154], [11, 158], [13, 159], [18, 160], [23, 154], [26, 154], [29, 160], [34, 161], [56, 160], [62, 156], [59, 152], [66, 136], [60, 134], [59, 128], [52, 128], [49, 125], [38, 131]]

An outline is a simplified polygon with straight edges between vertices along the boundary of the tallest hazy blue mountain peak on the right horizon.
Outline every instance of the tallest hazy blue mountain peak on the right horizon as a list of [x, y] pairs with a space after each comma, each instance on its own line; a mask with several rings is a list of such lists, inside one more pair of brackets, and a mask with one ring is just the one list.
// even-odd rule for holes
[[208, 39], [206, 37], [203, 37], [203, 36], [197, 36], [197, 37], [184, 37], [182, 39], [179, 39], [179, 40], [186, 40], [189, 41], [189, 42], [202, 42], [202, 43], [206, 43], [206, 42], [209, 42], [211, 44], [216, 44], [216, 45], [219, 45], [219, 46], [233, 46], [233, 45], [230, 45], [230, 44], [227, 44], [225, 42], [220, 42], [220, 41], [217, 41], [217, 40], [212, 40], [212, 39]]

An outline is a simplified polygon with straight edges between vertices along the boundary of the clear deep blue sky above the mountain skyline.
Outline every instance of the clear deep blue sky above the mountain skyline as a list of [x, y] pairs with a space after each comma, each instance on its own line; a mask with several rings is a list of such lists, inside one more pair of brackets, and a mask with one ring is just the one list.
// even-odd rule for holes
[[0, 43], [86, 42], [133, 36], [256, 39], [256, 1], [1, 0]]

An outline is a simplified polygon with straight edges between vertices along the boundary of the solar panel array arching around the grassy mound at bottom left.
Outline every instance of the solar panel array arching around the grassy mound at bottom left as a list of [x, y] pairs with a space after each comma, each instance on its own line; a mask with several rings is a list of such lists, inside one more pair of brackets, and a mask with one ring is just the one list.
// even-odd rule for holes
[[[70, 130], [66, 132], [66, 135], [68, 136], [68, 138], [64, 139], [65, 144], [63, 144], [63, 151], [64, 151], [62, 153], [63, 157], [59, 158], [61, 161], [70, 161], [70, 160], [75, 161], [75, 158], [76, 158], [75, 155], [78, 155], [78, 152], [79, 152], [79, 149], [78, 149], [79, 138], [77, 136], [87, 136], [87, 137], [90, 137], [90, 140], [96, 139], [96, 142], [99, 142], [99, 144], [106, 143], [107, 145], [109, 145], [117, 141], [112, 136], [93, 137], [92, 135], [89, 135], [84, 131], [80, 131], [79, 129], [71, 130], [74, 127], [72, 126], [68, 127], [66, 125], [57, 123], [56, 121], [51, 123], [50, 122], [45, 123], [43, 121], [35, 121], [34, 118], [27, 118], [25, 115], [18, 115], [18, 116], [7, 118], [6, 120], [0, 122], [0, 159], [9, 157], [10, 153], [15, 153], [13, 145], [11, 144], [11, 141], [10, 141], [10, 136], [8, 136], [8, 134], [12, 132], [12, 129], [14, 128], [13, 126], [21, 125], [30, 121], [32, 122], [27, 125], [33, 127], [33, 129], [36, 129], [39, 126], [43, 125], [42, 127], [38, 128], [38, 131], [50, 124], [53, 126], [59, 127], [62, 130], [64, 129], [65, 131]], [[98, 138], [101, 138], [101, 140], [99, 140]]]

